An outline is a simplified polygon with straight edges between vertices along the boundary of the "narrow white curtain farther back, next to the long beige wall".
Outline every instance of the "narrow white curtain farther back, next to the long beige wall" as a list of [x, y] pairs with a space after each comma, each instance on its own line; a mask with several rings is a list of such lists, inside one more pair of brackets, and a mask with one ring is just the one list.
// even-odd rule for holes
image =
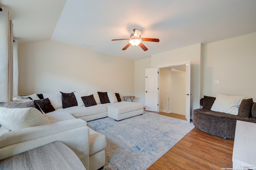
[[13, 42], [13, 96], [18, 96], [18, 40]]

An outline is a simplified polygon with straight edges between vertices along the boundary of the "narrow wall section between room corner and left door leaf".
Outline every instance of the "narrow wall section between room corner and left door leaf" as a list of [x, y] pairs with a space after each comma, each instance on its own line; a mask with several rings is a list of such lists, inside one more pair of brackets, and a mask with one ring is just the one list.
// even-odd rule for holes
[[134, 62], [134, 100], [145, 105], [145, 69], [151, 68], [151, 58]]

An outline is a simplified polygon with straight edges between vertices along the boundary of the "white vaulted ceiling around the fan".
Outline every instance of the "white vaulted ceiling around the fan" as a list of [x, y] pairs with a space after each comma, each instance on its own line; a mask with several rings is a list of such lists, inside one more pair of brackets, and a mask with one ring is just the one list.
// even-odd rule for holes
[[[256, 0], [0, 0], [19, 43], [52, 40], [130, 60], [256, 32]], [[122, 48], [133, 29], [158, 38]], [[82, 45], [81, 45], [82, 44]]]

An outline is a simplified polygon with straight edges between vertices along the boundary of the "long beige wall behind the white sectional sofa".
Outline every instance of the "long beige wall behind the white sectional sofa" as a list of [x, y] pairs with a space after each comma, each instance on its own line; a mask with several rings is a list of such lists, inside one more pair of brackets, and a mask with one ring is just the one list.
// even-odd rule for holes
[[19, 45], [19, 95], [110, 91], [134, 95], [134, 61], [40, 41]]

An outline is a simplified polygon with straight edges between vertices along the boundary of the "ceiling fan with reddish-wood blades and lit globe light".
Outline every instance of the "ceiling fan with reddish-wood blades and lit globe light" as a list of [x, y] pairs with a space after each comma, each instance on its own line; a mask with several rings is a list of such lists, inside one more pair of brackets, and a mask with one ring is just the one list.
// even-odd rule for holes
[[148, 48], [142, 44], [142, 41], [151, 41], [151, 42], [159, 42], [159, 39], [157, 38], [141, 38], [140, 37], [140, 33], [141, 31], [138, 29], [133, 29], [133, 32], [130, 35], [130, 38], [127, 39], [112, 39], [111, 41], [118, 41], [118, 40], [130, 40], [129, 43], [122, 49], [122, 50], [126, 50], [130, 45], [133, 45], [134, 47], [139, 45], [144, 51], [147, 51]]

